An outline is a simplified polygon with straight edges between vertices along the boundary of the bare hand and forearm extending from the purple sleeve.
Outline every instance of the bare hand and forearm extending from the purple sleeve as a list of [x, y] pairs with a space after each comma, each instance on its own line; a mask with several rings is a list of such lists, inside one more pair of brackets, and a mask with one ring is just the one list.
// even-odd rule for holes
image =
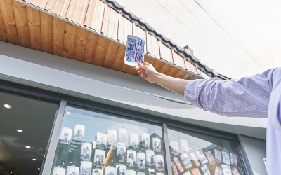
[[156, 83], [168, 90], [171, 90], [177, 94], [184, 94], [185, 86], [188, 84], [188, 80], [183, 80], [179, 78], [174, 78], [171, 76], [166, 76], [163, 73], [159, 73], [155, 68], [147, 63], [139, 63], [139, 67], [135, 69], [138, 71], [138, 74], [145, 80], [148, 80], [150, 83]]

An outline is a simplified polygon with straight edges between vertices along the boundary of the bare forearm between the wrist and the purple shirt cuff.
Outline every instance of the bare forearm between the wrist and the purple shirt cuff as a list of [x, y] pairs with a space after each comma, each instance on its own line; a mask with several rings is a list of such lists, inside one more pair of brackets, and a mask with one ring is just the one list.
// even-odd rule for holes
[[188, 84], [188, 80], [166, 76], [163, 73], [157, 73], [153, 76], [152, 83], [156, 83], [168, 90], [183, 95], [185, 86]]

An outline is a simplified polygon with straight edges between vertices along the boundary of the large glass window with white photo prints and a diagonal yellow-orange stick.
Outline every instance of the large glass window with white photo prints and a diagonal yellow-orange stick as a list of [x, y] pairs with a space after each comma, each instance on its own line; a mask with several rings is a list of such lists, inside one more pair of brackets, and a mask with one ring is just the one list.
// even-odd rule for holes
[[67, 106], [53, 175], [165, 174], [161, 125]]

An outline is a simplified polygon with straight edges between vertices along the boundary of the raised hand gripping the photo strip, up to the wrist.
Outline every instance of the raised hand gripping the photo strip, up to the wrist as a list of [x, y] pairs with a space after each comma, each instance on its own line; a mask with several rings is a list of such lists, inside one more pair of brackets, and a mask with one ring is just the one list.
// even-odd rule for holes
[[138, 74], [140, 74], [141, 78], [144, 78], [151, 83], [155, 83], [155, 76], [159, 74], [152, 64], [149, 64], [148, 62], [143, 62], [143, 64], [139, 62], [135, 69], [138, 71]]

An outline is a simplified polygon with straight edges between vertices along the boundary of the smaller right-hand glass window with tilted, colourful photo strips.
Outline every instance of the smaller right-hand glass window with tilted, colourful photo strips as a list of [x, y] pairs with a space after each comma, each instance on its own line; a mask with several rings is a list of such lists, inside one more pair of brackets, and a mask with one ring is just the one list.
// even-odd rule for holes
[[174, 175], [245, 174], [234, 140], [168, 129]]

